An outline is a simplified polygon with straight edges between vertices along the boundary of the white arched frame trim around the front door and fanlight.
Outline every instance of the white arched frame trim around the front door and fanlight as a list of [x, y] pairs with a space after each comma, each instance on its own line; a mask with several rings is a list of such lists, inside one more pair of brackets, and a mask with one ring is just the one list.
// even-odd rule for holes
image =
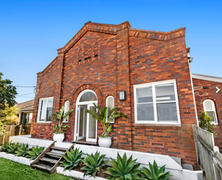
[[[92, 92], [93, 94], [95, 94], [96, 98], [97, 98], [97, 101], [85, 101], [85, 102], [79, 102], [80, 98], [82, 97], [83, 94], [85, 94], [86, 92]], [[88, 109], [88, 105], [89, 104], [97, 104], [98, 103], [98, 97], [96, 95], [96, 93], [91, 90], [91, 89], [86, 89], [86, 90], [83, 90], [77, 97], [76, 99], [76, 112], [75, 112], [75, 126], [74, 126], [74, 141], [76, 141], [76, 137], [77, 137], [77, 121], [78, 121], [78, 106], [79, 105], [87, 105], [87, 109]], [[79, 125], [79, 124], [78, 124]], [[95, 138], [95, 142], [97, 141], [97, 124], [96, 124], [96, 138]]]

